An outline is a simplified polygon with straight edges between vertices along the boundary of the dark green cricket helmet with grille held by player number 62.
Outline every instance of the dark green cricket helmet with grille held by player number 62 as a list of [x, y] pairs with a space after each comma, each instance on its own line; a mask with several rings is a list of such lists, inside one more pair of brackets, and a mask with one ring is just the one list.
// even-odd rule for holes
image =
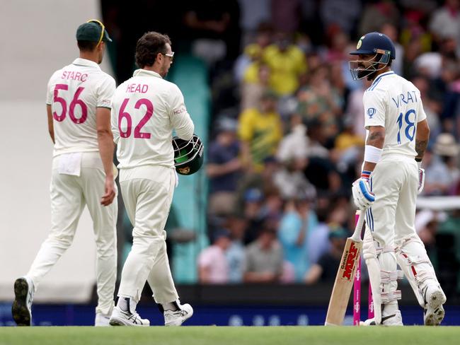
[[200, 170], [203, 164], [203, 144], [196, 134], [193, 134], [190, 140], [174, 136], [173, 148], [174, 166], [178, 174], [192, 175]]

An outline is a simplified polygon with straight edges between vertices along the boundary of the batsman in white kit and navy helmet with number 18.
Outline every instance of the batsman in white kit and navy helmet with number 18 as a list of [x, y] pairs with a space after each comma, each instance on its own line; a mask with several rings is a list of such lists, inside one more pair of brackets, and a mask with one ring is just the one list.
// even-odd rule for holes
[[420, 164], [430, 129], [420, 91], [391, 71], [393, 42], [384, 34], [360, 38], [350, 62], [355, 80], [372, 85], [363, 96], [367, 139], [362, 175], [352, 185], [356, 206], [366, 210], [363, 255], [369, 270], [375, 317], [363, 324], [402, 325], [397, 264], [424, 308], [426, 325], [444, 318], [446, 296], [425, 246], [415, 232], [415, 201], [425, 172]]

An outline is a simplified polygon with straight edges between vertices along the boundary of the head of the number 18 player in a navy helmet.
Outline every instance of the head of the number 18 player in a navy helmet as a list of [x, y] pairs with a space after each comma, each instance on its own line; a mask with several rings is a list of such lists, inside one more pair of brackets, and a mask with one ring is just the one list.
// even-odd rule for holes
[[377, 71], [391, 66], [391, 60], [396, 59], [393, 42], [383, 33], [367, 33], [361, 36], [356, 50], [350, 54], [360, 56], [360, 59], [349, 62], [350, 73], [355, 81], [365, 77], [372, 80]]

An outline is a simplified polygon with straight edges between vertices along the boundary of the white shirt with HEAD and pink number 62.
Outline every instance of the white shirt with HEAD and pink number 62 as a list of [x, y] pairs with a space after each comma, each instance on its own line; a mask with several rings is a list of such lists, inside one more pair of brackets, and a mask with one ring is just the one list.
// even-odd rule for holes
[[112, 131], [118, 168], [173, 168], [173, 129], [185, 140], [192, 138], [195, 129], [176, 84], [154, 71], [137, 69], [117, 87], [112, 100]]

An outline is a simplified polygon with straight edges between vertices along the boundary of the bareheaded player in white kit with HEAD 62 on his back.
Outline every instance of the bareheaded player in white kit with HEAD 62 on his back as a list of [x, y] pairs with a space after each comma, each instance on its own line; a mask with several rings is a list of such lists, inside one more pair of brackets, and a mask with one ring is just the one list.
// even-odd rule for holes
[[163, 79], [173, 60], [167, 35], [144, 34], [136, 47], [140, 69], [118, 86], [112, 103], [112, 129], [120, 161], [120, 188], [132, 225], [133, 244], [122, 270], [117, 306], [110, 324], [149, 326], [136, 312], [148, 281], [166, 326], [179, 326], [192, 316], [181, 305], [166, 254], [166, 231], [173, 192], [173, 129], [192, 139], [194, 125], [179, 88]]

